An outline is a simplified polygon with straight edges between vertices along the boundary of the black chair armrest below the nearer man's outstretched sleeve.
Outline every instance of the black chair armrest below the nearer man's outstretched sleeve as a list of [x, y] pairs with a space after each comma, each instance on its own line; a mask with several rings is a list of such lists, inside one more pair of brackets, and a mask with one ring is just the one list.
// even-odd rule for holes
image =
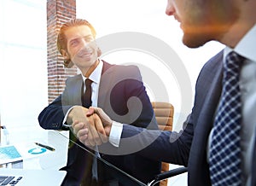
[[148, 186], [153, 186], [155, 183], [159, 183], [161, 180], [167, 179], [169, 177], [177, 176], [177, 175], [182, 174], [187, 171], [188, 171], [187, 167], [179, 167], [179, 168], [173, 169], [171, 171], [162, 172], [162, 173], [156, 175], [154, 177], [154, 179], [148, 183]]

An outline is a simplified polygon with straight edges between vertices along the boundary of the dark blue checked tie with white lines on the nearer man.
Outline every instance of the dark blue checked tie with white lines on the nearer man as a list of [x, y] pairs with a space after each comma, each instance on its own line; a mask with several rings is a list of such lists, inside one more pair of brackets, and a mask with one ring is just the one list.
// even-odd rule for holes
[[241, 91], [239, 75], [244, 60], [230, 52], [224, 62], [223, 92], [210, 147], [212, 186], [241, 185]]

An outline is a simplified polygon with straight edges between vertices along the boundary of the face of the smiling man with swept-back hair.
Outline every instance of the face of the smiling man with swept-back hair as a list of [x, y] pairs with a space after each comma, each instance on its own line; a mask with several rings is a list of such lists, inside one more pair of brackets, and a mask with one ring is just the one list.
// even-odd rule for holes
[[97, 47], [88, 26], [74, 26], [65, 32], [67, 51], [63, 56], [73, 61], [80, 70], [87, 70], [97, 60]]

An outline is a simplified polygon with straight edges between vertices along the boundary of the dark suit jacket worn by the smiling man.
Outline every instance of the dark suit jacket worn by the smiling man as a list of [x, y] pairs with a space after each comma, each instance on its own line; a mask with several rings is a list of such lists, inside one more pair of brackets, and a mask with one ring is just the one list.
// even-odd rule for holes
[[[66, 88], [61, 96], [57, 97], [39, 114], [38, 121], [41, 127], [49, 130], [67, 130], [62, 127], [62, 120], [69, 108], [73, 105], [82, 105], [82, 84], [81, 75], [67, 78]], [[130, 108], [129, 110], [127, 105]], [[103, 62], [98, 107], [103, 108], [110, 118], [115, 121], [148, 127], [148, 129], [158, 129], [151, 102], [143, 86], [141, 74], [135, 66], [118, 66]], [[84, 147], [82, 143], [78, 143]], [[85, 167], [81, 167], [84, 160], [83, 154], [84, 150], [81, 148], [70, 146], [67, 167], [64, 168], [67, 175], [75, 177], [79, 180], [78, 182], [81, 182], [79, 172], [86, 171], [84, 170]], [[114, 166], [119, 167], [119, 169], [133, 177], [137, 177], [144, 183], [148, 183], [155, 174], [160, 172], [160, 161], [158, 160], [152, 161], [135, 154], [101, 155], [104, 160], [108, 160]], [[86, 164], [86, 162], [84, 163]]]

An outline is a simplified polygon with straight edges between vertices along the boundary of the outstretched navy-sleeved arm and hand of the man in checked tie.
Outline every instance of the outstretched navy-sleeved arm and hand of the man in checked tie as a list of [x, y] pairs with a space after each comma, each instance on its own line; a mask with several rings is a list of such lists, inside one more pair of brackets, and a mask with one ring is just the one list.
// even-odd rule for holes
[[[113, 121], [108, 117], [102, 108], [90, 108], [88, 115], [96, 113], [102, 119], [101, 129], [104, 128], [109, 137]], [[89, 139], [90, 130], [85, 126], [73, 125], [80, 142], [84, 144], [93, 140]], [[193, 139], [194, 128], [189, 123], [189, 117], [184, 122], [183, 131], [157, 131], [147, 130], [132, 125], [124, 125], [119, 148], [111, 148], [111, 153], [137, 153], [152, 160], [161, 160], [169, 163], [187, 166], [189, 160], [189, 150]], [[100, 147], [101, 148], [101, 147]], [[109, 148], [109, 146], [108, 146]]]

